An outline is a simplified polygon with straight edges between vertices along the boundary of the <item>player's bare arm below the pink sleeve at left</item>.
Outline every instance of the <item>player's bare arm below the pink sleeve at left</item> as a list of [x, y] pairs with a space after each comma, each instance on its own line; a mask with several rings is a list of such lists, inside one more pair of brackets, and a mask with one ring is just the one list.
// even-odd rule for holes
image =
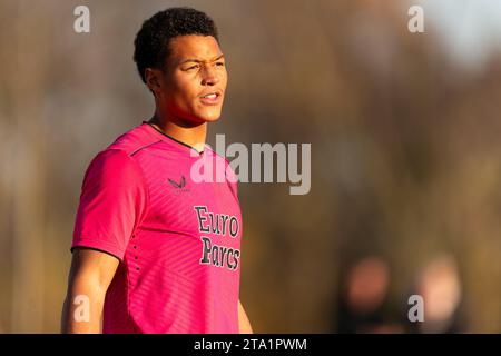
[[106, 291], [118, 264], [118, 258], [106, 253], [86, 248], [73, 251], [62, 307], [61, 333], [101, 333]]

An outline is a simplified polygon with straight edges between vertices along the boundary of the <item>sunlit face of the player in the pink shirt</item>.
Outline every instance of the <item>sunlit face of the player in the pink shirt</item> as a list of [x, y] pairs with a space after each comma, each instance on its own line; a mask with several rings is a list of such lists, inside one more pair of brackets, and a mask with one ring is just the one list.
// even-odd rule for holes
[[160, 105], [193, 123], [219, 119], [227, 83], [225, 59], [212, 36], [179, 36], [161, 71]]

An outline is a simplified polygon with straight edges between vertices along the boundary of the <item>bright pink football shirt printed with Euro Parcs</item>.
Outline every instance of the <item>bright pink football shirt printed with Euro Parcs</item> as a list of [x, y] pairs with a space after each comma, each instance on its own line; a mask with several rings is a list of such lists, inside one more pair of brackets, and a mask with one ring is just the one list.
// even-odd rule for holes
[[86, 171], [71, 245], [120, 259], [104, 333], [238, 333], [242, 229], [223, 157], [145, 121], [118, 137]]

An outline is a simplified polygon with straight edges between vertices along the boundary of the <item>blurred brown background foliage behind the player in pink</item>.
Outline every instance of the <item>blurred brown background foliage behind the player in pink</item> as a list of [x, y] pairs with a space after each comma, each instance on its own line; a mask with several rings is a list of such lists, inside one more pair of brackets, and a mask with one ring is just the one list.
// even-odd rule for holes
[[0, 0], [0, 330], [59, 330], [84, 172], [153, 113], [135, 34], [191, 6], [229, 71], [209, 144], [312, 142], [308, 195], [239, 185], [254, 329], [500, 333], [501, 9], [472, 2]]

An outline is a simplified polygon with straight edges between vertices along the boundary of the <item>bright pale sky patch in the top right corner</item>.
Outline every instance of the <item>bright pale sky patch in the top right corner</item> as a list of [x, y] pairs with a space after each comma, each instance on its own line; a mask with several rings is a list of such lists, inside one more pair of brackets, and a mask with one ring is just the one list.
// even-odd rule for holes
[[494, 51], [501, 52], [501, 0], [407, 1], [423, 7], [425, 32], [440, 31], [460, 63], [478, 68]]

